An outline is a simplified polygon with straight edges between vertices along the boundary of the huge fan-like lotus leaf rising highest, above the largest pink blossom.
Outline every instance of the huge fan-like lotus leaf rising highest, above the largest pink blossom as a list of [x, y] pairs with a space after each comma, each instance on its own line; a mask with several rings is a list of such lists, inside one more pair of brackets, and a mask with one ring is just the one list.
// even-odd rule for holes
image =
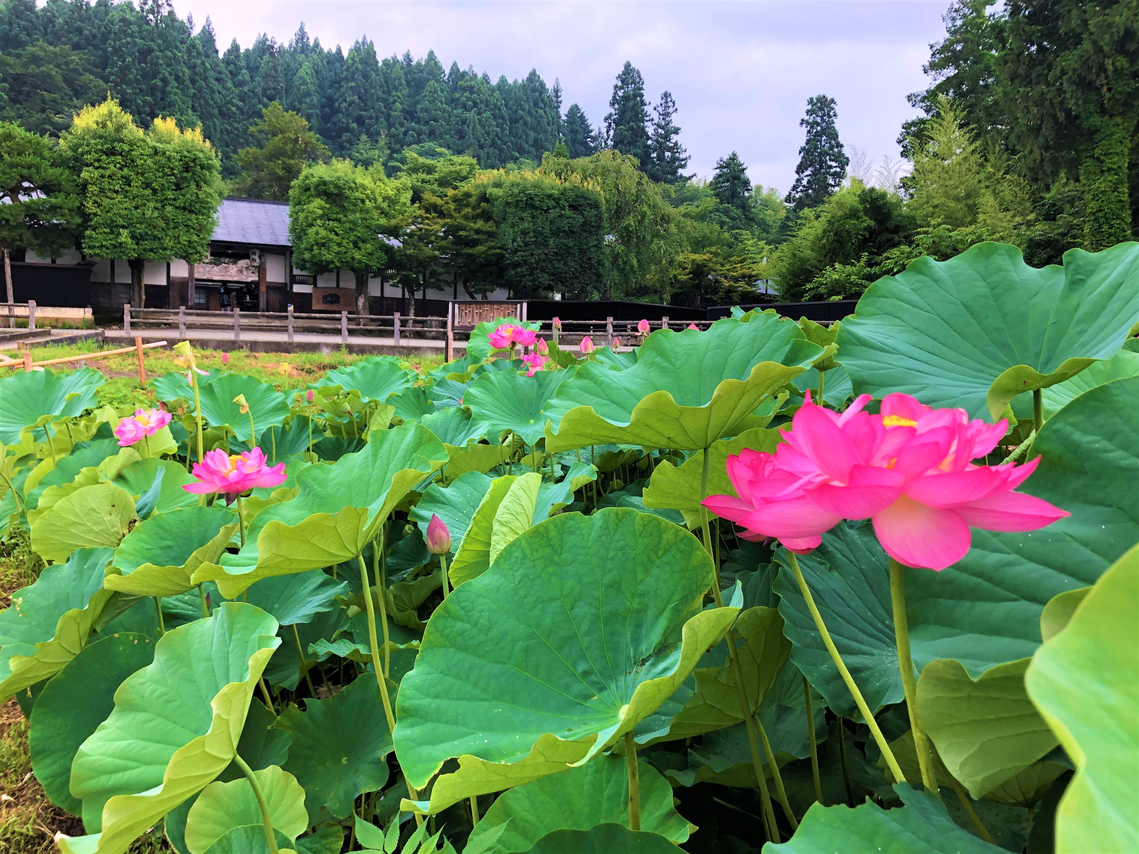
[[912, 394], [1000, 418], [1022, 392], [1063, 383], [1118, 353], [1139, 321], [1139, 244], [1071, 249], [1036, 270], [1021, 251], [978, 244], [878, 279], [838, 332], [857, 394]]

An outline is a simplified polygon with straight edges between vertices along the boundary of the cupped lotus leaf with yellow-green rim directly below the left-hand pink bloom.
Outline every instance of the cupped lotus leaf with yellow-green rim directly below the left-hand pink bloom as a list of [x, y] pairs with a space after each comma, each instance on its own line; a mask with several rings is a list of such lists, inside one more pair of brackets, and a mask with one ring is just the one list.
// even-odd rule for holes
[[237, 517], [224, 507], [187, 507], [155, 514], [123, 537], [114, 565], [123, 575], [107, 586], [133, 596], [178, 596], [194, 586], [203, 563], [213, 563], [237, 534]]

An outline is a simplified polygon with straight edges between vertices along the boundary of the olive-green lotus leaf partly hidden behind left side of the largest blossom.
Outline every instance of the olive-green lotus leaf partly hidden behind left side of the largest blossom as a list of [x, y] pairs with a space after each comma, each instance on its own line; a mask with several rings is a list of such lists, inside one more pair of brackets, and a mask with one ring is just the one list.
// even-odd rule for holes
[[773, 453], [776, 445], [782, 441], [779, 430], [751, 429], [744, 430], [735, 438], [722, 438], [712, 443], [708, 449], [708, 483], [707, 492], [700, 494], [700, 477], [704, 470], [704, 451], [697, 451], [681, 466], [673, 466], [667, 460], [657, 465], [645, 488], [646, 507], [667, 510], [680, 510], [685, 524], [694, 528], [700, 524], [700, 501], [707, 495], [736, 495], [724, 468], [730, 454], [739, 454], [745, 447], [753, 451]]

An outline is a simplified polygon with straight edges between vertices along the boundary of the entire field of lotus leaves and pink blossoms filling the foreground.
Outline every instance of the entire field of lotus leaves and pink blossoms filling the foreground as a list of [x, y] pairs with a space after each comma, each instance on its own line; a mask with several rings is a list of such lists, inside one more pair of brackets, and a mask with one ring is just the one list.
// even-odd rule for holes
[[982, 244], [829, 328], [0, 379], [59, 849], [1134, 852], [1137, 330], [1139, 244]]

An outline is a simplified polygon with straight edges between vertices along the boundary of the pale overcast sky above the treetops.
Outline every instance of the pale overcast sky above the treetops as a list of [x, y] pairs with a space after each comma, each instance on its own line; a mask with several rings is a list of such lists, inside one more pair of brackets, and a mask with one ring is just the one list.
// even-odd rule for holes
[[221, 49], [265, 32], [287, 42], [303, 20], [326, 48], [367, 35], [377, 52], [434, 49], [492, 80], [538, 68], [562, 81], [600, 124], [625, 59], [655, 102], [672, 92], [689, 171], [710, 175], [736, 150], [755, 183], [786, 192], [795, 178], [812, 95], [838, 101], [843, 142], [872, 161], [898, 157], [906, 95], [924, 89], [921, 65], [941, 39], [949, 0], [902, 2], [361, 2], [359, 0], [175, 0], [196, 26], [213, 20]]

